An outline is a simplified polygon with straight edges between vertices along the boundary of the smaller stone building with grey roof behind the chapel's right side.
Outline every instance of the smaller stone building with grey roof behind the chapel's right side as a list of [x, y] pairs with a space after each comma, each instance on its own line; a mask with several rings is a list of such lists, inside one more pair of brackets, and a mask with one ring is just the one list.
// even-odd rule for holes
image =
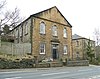
[[[86, 59], [86, 47], [90, 39], [84, 38], [77, 34], [72, 35], [73, 59]], [[92, 49], [95, 50], [95, 41], [90, 40]], [[95, 51], [94, 51], [95, 53]]]

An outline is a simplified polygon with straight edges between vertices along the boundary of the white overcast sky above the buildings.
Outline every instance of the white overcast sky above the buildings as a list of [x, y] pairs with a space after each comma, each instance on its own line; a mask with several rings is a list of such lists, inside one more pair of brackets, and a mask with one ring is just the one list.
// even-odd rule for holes
[[8, 9], [18, 7], [26, 18], [53, 6], [73, 26], [73, 34], [94, 39], [94, 29], [100, 29], [100, 0], [7, 0]]

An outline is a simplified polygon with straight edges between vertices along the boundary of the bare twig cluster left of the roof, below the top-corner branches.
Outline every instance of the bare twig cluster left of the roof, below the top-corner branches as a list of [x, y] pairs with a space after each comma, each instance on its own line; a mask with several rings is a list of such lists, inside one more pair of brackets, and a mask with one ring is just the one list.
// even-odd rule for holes
[[11, 26], [11, 28], [14, 28], [16, 25], [22, 22], [22, 18], [20, 17], [20, 10], [18, 8], [15, 8], [14, 11], [6, 11], [3, 17], [4, 18], [2, 18], [0, 21], [1, 27], [7, 24]]

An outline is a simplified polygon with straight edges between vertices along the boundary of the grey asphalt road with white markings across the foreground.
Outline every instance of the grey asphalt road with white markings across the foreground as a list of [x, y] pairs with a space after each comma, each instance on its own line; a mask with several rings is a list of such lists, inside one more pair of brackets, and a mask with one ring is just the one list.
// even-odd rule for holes
[[0, 79], [100, 79], [99, 66], [4, 70]]

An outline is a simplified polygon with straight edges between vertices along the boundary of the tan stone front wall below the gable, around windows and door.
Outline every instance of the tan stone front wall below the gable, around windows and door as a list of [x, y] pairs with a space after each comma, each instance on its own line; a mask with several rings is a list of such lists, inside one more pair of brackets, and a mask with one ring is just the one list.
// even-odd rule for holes
[[[43, 21], [46, 24], [46, 34], [45, 35], [41, 35], [39, 32], [39, 24], [40, 22]], [[57, 26], [57, 32], [58, 32], [58, 36], [57, 37], [53, 37], [52, 36], [52, 26], [56, 25]], [[64, 27], [67, 28], [67, 38], [63, 37], [63, 29]], [[57, 39], [60, 41], [59, 45], [58, 45], [58, 53], [59, 53], [59, 59], [61, 58], [71, 58], [72, 57], [72, 45], [71, 45], [71, 34], [72, 34], [72, 29], [69, 26], [64, 26], [62, 24], [58, 24], [55, 22], [50, 22], [47, 20], [43, 20], [43, 19], [39, 19], [39, 18], [35, 18], [34, 19], [34, 28], [33, 28], [33, 35], [32, 35], [32, 54], [34, 56], [38, 56], [38, 58], [50, 58], [52, 57], [52, 40], [53, 39]], [[40, 47], [40, 43], [44, 42], [46, 44], [46, 54], [45, 55], [40, 55], [39, 54], [39, 47]], [[64, 54], [63, 53], [63, 46], [67, 45], [68, 46], [68, 54]], [[42, 57], [41, 57], [42, 56]]]

